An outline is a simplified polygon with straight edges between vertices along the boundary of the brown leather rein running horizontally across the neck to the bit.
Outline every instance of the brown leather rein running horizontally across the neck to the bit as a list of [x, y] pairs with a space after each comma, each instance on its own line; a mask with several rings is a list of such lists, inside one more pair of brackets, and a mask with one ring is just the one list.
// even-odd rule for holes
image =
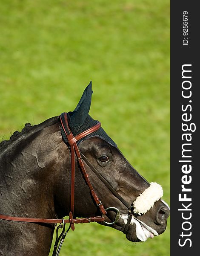
[[[13, 217], [8, 215], [1, 215], [0, 219], [6, 221], [20, 221], [20, 222], [33, 222], [33, 223], [63, 223], [63, 219], [46, 219], [46, 218], [20, 218], [20, 217]], [[90, 222], [100, 222], [104, 221], [104, 217], [97, 216], [97, 217], [90, 217], [90, 218], [74, 218], [74, 219], [66, 219], [64, 220], [65, 223], [90, 223]]]

